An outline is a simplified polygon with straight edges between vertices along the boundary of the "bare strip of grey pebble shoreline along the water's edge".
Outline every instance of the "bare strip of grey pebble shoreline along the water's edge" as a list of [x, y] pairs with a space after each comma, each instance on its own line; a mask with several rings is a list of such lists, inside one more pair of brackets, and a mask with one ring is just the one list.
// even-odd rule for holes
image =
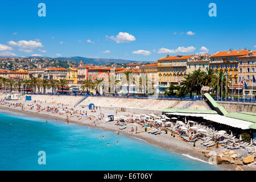
[[[22, 115], [24, 114], [24, 115], [27, 115], [29, 117], [35, 117], [35, 118], [43, 118], [43, 119], [47, 118], [47, 119], [52, 119], [52, 120], [58, 119], [61, 122], [65, 122], [64, 118], [58, 117], [57, 115], [53, 116], [53, 115], [45, 114], [45, 113], [35, 113], [33, 111], [27, 111], [27, 110], [23, 111], [23, 110], [19, 110], [19, 109], [4, 107], [4, 106], [1, 106], [1, 105], [0, 105], [0, 111], [2, 111], [3, 113], [10, 113], [10, 114], [22, 114]], [[14, 112], [14, 113], [12, 113], [12, 112]], [[72, 118], [69, 119], [69, 122], [73, 123], [75, 125], [94, 127], [93, 124], [77, 122]], [[106, 127], [106, 126], [101, 126], [101, 125], [97, 125], [96, 128], [102, 129], [102, 130], [105, 130], [105, 131], [113, 131], [113, 132], [119, 131], [120, 134], [127, 135], [129, 137], [135, 137], [137, 139], [142, 139], [142, 140], [146, 141], [148, 144], [151, 144], [151, 145], [156, 146], [156, 147], [163, 148], [164, 150], [175, 152], [176, 154], [183, 155], [183, 156], [185, 156], [187, 158], [190, 158], [190, 159], [193, 159], [193, 160], [201, 160], [201, 162], [209, 163], [208, 158], [206, 158], [204, 156], [204, 154], [201, 154], [200, 152], [197, 152], [197, 150], [192, 148], [192, 144], [191, 144], [190, 147], [188, 147], [188, 146], [187, 147], [184, 147], [184, 146], [181, 147], [181, 146], [177, 146], [175, 143], [164, 143], [164, 142], [161, 142], [161, 141], [159, 141], [155, 138], [144, 137], [144, 136], [138, 135], [138, 134], [131, 134], [131, 133], [129, 133], [127, 131], [124, 131], [124, 130], [113, 129], [113, 128]], [[214, 165], [214, 164], [210, 164], [210, 165]], [[230, 165], [230, 164], [229, 165], [228, 164], [218, 164], [218, 165], [214, 165], [214, 166], [216, 166], [220, 169], [223, 169], [223, 170], [236, 170], [236, 167], [237, 167], [235, 165]], [[245, 168], [245, 167], [243, 167], [243, 168]], [[245, 170], [253, 170], [253, 169], [246, 167]]]

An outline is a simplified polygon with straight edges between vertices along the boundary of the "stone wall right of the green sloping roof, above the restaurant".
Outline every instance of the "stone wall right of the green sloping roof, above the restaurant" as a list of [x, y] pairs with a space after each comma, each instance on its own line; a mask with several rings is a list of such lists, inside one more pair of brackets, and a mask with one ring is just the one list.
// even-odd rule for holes
[[217, 102], [218, 105], [223, 106], [228, 113], [235, 113], [238, 111], [256, 113], [256, 104], [250, 103], [237, 103], [237, 102]]

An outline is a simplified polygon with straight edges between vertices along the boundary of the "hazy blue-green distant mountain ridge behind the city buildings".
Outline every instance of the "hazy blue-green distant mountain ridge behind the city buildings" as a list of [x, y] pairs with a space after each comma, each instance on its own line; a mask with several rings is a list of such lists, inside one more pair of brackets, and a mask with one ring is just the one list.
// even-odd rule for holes
[[80, 62], [84, 64], [106, 64], [106, 63], [133, 63], [137, 61], [132, 60], [125, 60], [125, 59], [112, 59], [112, 58], [88, 58], [88, 57], [79, 57], [79, 56], [73, 56], [73, 57], [55, 57], [54, 59], [57, 60], [64, 60], [64, 61], [74, 61], [74, 62]]

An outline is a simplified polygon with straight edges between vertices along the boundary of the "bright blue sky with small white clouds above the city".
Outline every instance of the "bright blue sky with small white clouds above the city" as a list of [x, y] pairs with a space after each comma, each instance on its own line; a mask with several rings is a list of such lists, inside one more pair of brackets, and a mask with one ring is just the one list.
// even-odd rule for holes
[[[46, 17], [38, 16], [40, 2]], [[212, 2], [216, 17], [208, 15]], [[255, 7], [254, 0], [1, 1], [0, 56], [156, 61], [167, 53], [255, 50]]]

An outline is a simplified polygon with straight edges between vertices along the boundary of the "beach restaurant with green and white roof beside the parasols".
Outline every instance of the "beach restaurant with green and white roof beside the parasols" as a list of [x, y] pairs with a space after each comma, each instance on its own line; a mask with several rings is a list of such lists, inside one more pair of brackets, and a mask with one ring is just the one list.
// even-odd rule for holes
[[[256, 137], [256, 113], [238, 112], [220, 115], [214, 110], [164, 109], [163, 114], [178, 121], [195, 121], [216, 130], [226, 130], [236, 135], [250, 134]], [[176, 121], [175, 121], [176, 122]]]

